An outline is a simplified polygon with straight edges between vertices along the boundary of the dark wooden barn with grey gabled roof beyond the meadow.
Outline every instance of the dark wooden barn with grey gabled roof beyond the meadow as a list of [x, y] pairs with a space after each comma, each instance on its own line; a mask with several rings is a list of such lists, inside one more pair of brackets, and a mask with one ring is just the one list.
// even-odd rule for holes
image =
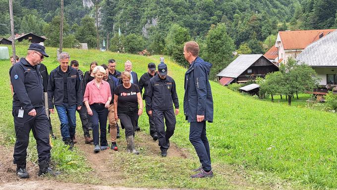
[[250, 54], [240, 55], [217, 76], [222, 85], [228, 85], [255, 80], [258, 76], [265, 77], [266, 74], [278, 70], [279, 67], [262, 54]]

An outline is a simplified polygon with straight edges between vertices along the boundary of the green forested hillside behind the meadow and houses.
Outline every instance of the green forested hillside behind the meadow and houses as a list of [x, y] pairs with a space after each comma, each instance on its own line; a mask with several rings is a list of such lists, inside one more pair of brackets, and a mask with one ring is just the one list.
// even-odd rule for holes
[[[57, 47], [59, 0], [14, 0], [16, 33], [33, 32]], [[216, 63], [211, 76], [238, 54], [263, 54], [278, 31], [337, 27], [336, 0], [64, 0], [64, 47], [96, 47], [98, 6], [100, 46], [109, 50], [171, 56], [186, 64], [183, 43], [196, 40], [201, 56]], [[8, 0], [0, 0], [0, 35], [9, 37]], [[118, 34], [118, 32], [120, 33]]]

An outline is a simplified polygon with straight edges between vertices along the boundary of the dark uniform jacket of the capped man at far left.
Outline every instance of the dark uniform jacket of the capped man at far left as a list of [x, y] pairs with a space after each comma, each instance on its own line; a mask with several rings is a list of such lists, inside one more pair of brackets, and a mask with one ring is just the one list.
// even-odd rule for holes
[[13, 85], [13, 108], [23, 107], [27, 112], [44, 106], [43, 83], [40, 65], [32, 66], [21, 58], [9, 69]]

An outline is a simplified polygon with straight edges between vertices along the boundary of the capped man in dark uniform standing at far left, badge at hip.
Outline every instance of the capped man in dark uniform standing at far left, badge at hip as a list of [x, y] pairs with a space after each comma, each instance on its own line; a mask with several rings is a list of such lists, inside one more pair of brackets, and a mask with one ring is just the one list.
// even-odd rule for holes
[[49, 167], [51, 146], [49, 144], [49, 121], [44, 107], [44, 94], [40, 65], [48, 55], [45, 47], [31, 44], [26, 58], [21, 58], [9, 70], [13, 85], [13, 117], [16, 134], [14, 161], [16, 174], [28, 178], [26, 171], [27, 147], [29, 132], [32, 129], [37, 143], [39, 175], [56, 174]]

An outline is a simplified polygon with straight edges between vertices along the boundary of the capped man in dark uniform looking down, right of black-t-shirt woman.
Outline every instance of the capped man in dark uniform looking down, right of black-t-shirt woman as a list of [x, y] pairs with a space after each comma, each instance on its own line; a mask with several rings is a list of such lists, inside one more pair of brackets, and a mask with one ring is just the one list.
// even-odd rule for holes
[[[146, 110], [148, 110], [149, 115], [152, 116], [155, 121], [159, 146], [163, 157], [167, 155], [169, 138], [174, 133], [176, 123], [174, 114], [178, 115], [179, 113], [179, 101], [175, 90], [175, 82], [173, 78], [167, 74], [167, 65], [160, 63], [158, 65], [158, 74], [150, 79], [145, 98]], [[172, 102], [174, 103], [175, 112]]]

